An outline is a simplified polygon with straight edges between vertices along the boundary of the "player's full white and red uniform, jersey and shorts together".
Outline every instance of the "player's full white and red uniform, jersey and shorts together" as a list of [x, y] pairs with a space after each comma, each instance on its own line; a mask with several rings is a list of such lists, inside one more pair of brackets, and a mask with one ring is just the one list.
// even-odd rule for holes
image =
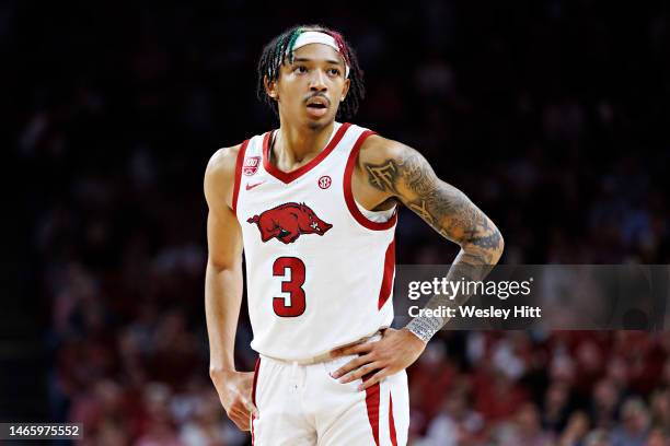
[[240, 148], [233, 211], [242, 227], [249, 314], [259, 354], [256, 445], [398, 445], [408, 427], [404, 371], [358, 391], [331, 374], [356, 356], [334, 348], [378, 341], [393, 320], [395, 209], [370, 212], [351, 192], [372, 131], [335, 122], [324, 150], [285, 173], [274, 131]]

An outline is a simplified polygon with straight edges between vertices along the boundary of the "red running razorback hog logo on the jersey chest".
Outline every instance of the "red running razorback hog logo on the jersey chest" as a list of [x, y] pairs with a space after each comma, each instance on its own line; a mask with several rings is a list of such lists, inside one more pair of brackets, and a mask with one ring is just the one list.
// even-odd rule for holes
[[268, 209], [247, 220], [256, 223], [261, 239], [265, 243], [275, 237], [284, 244], [296, 242], [300, 234], [325, 234], [332, 224], [321, 220], [305, 203], [286, 203]]

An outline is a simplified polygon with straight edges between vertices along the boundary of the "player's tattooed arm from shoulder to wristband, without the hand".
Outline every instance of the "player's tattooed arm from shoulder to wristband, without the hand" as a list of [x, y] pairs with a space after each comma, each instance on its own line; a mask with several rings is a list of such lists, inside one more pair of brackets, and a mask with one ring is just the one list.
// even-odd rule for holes
[[[463, 192], [440, 180], [414, 149], [377, 136], [368, 141], [361, 149], [357, 175], [360, 192], [363, 181], [376, 192], [361, 193], [368, 197], [368, 204], [373, 204], [374, 198], [380, 202], [401, 201], [444, 238], [461, 246], [447, 280], [483, 280], [503, 254], [503, 236], [496, 225]], [[469, 297], [461, 294], [451, 301], [437, 295], [426, 307], [461, 305]], [[440, 317], [417, 317], [406, 328], [427, 342], [446, 322]]]

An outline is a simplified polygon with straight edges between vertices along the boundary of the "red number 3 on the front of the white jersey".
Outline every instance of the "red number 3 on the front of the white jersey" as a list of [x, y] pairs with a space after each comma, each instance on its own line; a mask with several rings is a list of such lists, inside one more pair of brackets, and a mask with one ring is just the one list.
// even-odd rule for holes
[[[273, 308], [281, 317], [297, 317], [304, 313], [304, 263], [297, 257], [279, 257], [273, 265], [273, 275], [285, 277], [289, 270], [290, 279], [281, 281], [281, 292], [289, 293], [289, 298], [274, 297]], [[288, 305], [286, 304], [288, 301]]]

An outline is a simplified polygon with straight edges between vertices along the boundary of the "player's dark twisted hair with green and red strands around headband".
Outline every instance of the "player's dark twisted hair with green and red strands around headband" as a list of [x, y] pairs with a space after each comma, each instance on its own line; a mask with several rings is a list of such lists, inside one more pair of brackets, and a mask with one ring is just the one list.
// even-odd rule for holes
[[293, 62], [293, 45], [300, 34], [305, 31], [316, 31], [325, 33], [335, 39], [339, 48], [339, 54], [345, 62], [349, 66], [349, 92], [345, 101], [339, 104], [337, 109], [337, 118], [353, 118], [358, 111], [358, 105], [366, 95], [363, 85], [363, 72], [358, 66], [358, 59], [354, 49], [347, 44], [342, 35], [335, 31], [328, 30], [321, 25], [297, 25], [293, 26], [277, 37], [273, 38], [269, 44], [263, 48], [263, 54], [258, 60], [258, 81], [256, 86], [256, 95], [258, 99], [266, 103], [279, 116], [279, 107], [277, 102], [269, 97], [265, 90], [264, 77], [267, 77], [268, 82], [275, 82], [279, 79], [279, 69], [288, 59], [289, 63]]

